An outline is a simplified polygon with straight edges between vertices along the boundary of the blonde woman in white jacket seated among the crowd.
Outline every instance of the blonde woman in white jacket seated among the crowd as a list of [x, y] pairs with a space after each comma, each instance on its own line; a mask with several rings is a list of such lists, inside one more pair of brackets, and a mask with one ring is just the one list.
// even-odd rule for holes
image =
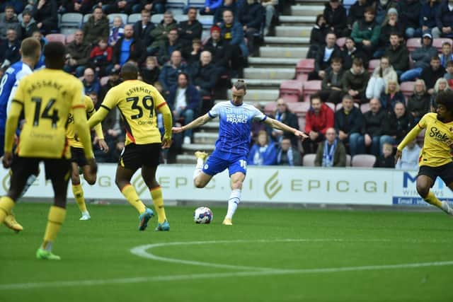
[[379, 66], [377, 66], [367, 84], [365, 95], [367, 98], [380, 98], [382, 91], [388, 81], [398, 81], [398, 75], [391, 66], [388, 57], [382, 57]]

